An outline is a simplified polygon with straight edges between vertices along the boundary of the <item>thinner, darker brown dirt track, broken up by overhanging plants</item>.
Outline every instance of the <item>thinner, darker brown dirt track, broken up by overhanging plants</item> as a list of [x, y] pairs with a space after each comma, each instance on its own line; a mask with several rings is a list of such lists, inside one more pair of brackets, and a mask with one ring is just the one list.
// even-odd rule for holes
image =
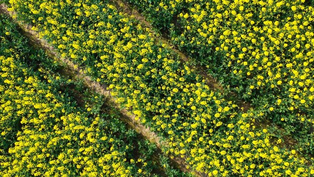
[[[137, 9], [135, 7], [129, 5], [126, 2], [123, 2], [122, 0], [110, 0], [110, 2], [112, 2], [115, 5], [115, 7], [118, 11], [126, 13], [131, 18], [134, 18], [135, 20], [139, 21], [139, 23], [141, 25], [144, 25], [146, 28], [148, 28], [150, 30], [150, 32], [154, 35], [155, 39], [158, 42], [162, 42], [164, 44], [167, 44], [167, 46], [169, 46], [171, 50], [173, 50], [175, 53], [177, 53], [180, 56], [180, 60], [182, 62], [187, 63], [188, 61], [191, 61], [191, 59], [185, 53], [178, 50], [176, 46], [174, 46], [171, 42], [169, 42], [169, 39], [163, 37], [163, 35], [166, 36], [167, 34], [162, 34], [162, 36], [161, 36], [160, 34], [156, 33], [154, 31], [155, 28], [146, 20], [146, 18], [142, 14], [140, 14], [137, 11]], [[209, 75], [204, 69], [198, 68], [198, 67], [193, 66], [193, 65], [189, 65], [189, 67], [198, 71], [198, 74], [203, 76], [203, 78], [206, 81], [206, 84], [210, 87], [211, 90], [224, 92], [223, 86], [220, 83], [218, 83], [215, 78], [213, 78], [211, 75]], [[235, 96], [234, 93], [231, 93], [231, 95]], [[249, 109], [253, 108], [250, 103], [244, 102], [242, 100], [239, 100], [236, 104], [239, 106], [239, 108], [242, 109], [242, 111], [244, 113], [247, 112]], [[273, 126], [271, 124], [271, 122], [269, 122], [269, 121], [263, 121], [262, 124], [255, 122], [254, 124], [255, 124], [255, 126], [260, 127], [260, 128], [267, 128], [267, 126]], [[280, 130], [283, 130], [280, 127], [277, 127], [277, 128]], [[284, 144], [284, 146], [286, 146], [287, 148], [297, 144], [297, 141], [294, 140], [293, 138], [289, 137], [289, 136], [285, 135], [282, 138], [283, 138], [284, 142], [286, 142]]]

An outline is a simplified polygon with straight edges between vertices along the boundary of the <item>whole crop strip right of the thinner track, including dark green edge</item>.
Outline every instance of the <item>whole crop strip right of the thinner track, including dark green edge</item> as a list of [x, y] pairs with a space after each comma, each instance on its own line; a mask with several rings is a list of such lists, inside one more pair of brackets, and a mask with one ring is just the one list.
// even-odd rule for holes
[[[126, 1], [228, 92], [314, 152], [310, 1]], [[146, 8], [141, 8], [146, 7]]]

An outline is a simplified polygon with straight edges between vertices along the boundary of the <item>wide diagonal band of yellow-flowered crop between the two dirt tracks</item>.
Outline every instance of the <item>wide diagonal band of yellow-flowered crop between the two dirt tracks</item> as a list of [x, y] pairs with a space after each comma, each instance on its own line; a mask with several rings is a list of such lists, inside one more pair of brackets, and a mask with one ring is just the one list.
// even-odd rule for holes
[[271, 142], [267, 129], [255, 128], [258, 115], [242, 113], [210, 91], [179, 56], [107, 1], [10, 3], [19, 19], [167, 138], [167, 153], [186, 158], [194, 169], [221, 176], [314, 172], [295, 150], [281, 148], [281, 140]]

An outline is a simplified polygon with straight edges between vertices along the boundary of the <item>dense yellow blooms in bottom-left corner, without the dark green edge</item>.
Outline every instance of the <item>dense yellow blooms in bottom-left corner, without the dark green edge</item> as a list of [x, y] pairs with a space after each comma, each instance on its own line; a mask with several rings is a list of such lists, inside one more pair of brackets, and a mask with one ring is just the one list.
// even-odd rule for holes
[[[14, 60], [0, 56], [1, 68], [10, 67], [1, 72], [9, 76], [5, 84], [2, 83], [1, 99], [6, 102], [1, 104], [1, 134], [4, 136], [14, 129], [4, 127], [12, 117], [22, 118], [22, 131], [15, 135], [17, 141], [9, 148], [10, 157], [2, 156], [5, 157], [1, 160], [2, 176], [26, 172], [34, 176], [134, 174], [136, 167], [126, 162], [126, 152], [121, 151], [127, 151], [129, 144], [121, 147], [119, 137], [110, 129], [104, 130], [109, 128], [108, 123], [99, 117], [90, 121], [79, 112], [58, 113], [65, 112], [64, 107], [60, 107], [66, 103], [59, 102], [50, 90], [43, 90], [38, 78], [27, 73], [24, 84], [13, 81], [24, 78], [14, 75], [17, 70]], [[144, 170], [140, 173], [147, 175]]]

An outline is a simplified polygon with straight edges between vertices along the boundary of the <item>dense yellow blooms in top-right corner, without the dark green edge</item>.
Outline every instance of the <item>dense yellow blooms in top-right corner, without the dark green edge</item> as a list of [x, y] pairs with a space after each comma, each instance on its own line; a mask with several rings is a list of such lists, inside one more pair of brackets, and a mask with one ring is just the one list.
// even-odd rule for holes
[[[267, 95], [266, 107], [307, 114], [314, 98], [314, 8], [302, 3], [190, 1], [188, 13], [179, 14], [186, 30], [175, 40], [185, 50], [198, 48], [200, 52], [191, 52], [199, 54], [213, 74], [220, 74], [215, 67], [221, 64], [227, 71], [224, 77], [230, 78], [225, 84], [236, 87], [244, 97], [251, 99], [267, 91], [271, 95]], [[311, 117], [305, 121], [314, 123]]]

